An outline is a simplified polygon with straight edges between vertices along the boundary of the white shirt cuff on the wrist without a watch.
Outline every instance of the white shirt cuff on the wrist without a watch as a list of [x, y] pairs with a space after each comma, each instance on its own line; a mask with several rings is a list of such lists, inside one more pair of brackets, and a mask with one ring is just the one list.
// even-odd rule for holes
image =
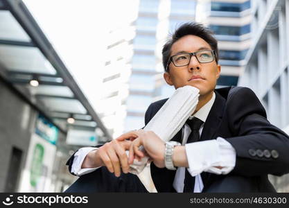
[[71, 173], [74, 173], [78, 176], [80, 175], [85, 175], [87, 173], [91, 173], [95, 171], [97, 168], [81, 168], [82, 162], [87, 156], [87, 154], [92, 151], [92, 150], [98, 150], [98, 148], [92, 148], [92, 147], [85, 147], [85, 148], [80, 148], [75, 154], [73, 158], [73, 163], [71, 166]]

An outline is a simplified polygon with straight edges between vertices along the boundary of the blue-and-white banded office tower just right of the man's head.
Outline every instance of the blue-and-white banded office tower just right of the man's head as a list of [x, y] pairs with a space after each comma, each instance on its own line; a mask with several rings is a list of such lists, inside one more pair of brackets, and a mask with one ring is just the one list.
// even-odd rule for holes
[[[198, 17], [216, 34], [221, 76], [217, 85], [237, 85], [251, 37], [251, 1], [199, 1]], [[207, 4], [207, 5], [206, 5]], [[201, 13], [205, 15], [202, 15]]]

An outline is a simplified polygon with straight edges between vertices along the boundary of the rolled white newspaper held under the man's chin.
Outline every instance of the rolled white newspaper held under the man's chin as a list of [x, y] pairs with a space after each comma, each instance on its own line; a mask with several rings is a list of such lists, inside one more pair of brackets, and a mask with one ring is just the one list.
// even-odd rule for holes
[[[162, 140], [170, 141], [195, 111], [199, 92], [198, 88], [189, 85], [177, 88], [143, 130], [153, 131]], [[141, 148], [143, 150], [142, 146]], [[147, 162], [148, 157], [143, 157], [141, 161], [134, 159], [134, 163], [130, 165], [130, 173], [138, 175]]]

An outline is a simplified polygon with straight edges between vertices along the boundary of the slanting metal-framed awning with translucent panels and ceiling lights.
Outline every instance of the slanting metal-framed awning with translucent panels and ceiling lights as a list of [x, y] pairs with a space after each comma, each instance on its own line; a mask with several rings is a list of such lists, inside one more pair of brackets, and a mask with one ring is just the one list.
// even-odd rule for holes
[[[62, 132], [67, 133], [69, 125], [77, 125], [98, 128], [99, 137], [107, 141], [112, 139], [33, 16], [19, 0], [0, 0], [0, 76]], [[71, 117], [73, 124], [67, 123]]]

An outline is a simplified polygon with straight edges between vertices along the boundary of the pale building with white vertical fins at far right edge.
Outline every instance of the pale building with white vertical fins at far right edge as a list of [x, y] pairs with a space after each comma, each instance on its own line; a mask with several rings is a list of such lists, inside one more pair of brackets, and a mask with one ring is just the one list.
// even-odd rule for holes
[[[268, 120], [289, 134], [289, 1], [252, 1], [252, 33], [238, 85], [253, 89]], [[270, 180], [289, 191], [289, 175]]]

